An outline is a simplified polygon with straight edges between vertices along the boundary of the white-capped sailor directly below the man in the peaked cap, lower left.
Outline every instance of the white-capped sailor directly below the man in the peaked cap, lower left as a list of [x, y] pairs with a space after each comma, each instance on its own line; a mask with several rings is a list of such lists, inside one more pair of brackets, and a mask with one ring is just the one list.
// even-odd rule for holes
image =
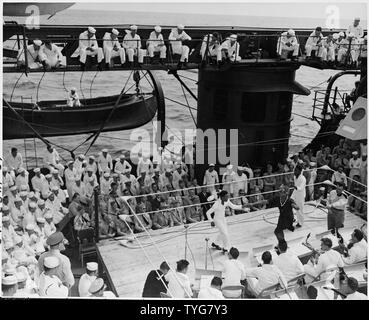
[[44, 271], [39, 278], [39, 294], [41, 297], [68, 297], [68, 288], [64, 286], [61, 280], [55, 275], [59, 266], [58, 257], [48, 256], [44, 259]]

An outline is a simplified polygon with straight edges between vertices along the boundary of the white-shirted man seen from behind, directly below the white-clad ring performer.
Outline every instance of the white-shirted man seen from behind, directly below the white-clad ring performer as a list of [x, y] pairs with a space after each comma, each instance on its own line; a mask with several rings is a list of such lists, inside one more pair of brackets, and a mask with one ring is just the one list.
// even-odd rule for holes
[[[222, 277], [224, 279], [223, 288], [227, 286], [239, 286], [241, 280], [245, 280], [245, 266], [238, 261], [239, 251], [232, 247], [228, 252], [228, 260], [224, 261], [222, 268]], [[222, 290], [224, 297], [237, 298], [241, 295], [241, 290]]]

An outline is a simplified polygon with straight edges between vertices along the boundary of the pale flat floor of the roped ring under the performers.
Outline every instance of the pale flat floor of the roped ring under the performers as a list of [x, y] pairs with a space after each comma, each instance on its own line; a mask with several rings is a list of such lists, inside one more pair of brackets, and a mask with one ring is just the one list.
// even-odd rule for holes
[[[290, 243], [290, 246], [291, 243], [295, 242], [294, 245], [297, 245], [298, 242], [300, 252], [305, 248], [301, 243], [308, 233], [311, 233], [309, 242], [315, 248], [319, 248], [320, 236], [316, 237], [316, 235], [327, 230], [326, 213], [324, 211], [316, 209], [314, 205], [305, 204], [305, 212], [305, 224], [302, 228], [296, 229], [294, 232], [285, 231], [287, 242]], [[277, 219], [277, 208], [227, 217], [231, 244], [239, 249], [239, 260], [246, 267], [257, 265], [253, 248], [266, 245], [274, 247], [276, 244], [273, 231]], [[345, 228], [340, 233], [345, 240], [348, 240], [352, 230], [361, 227], [364, 223], [365, 221], [358, 216], [347, 212]], [[150, 235], [171, 267], [175, 268], [175, 263], [179, 259], [186, 258], [190, 262], [188, 275], [192, 281], [195, 279], [196, 268], [205, 269], [207, 263], [208, 270], [221, 270], [222, 262], [226, 259], [226, 256], [217, 250], [209, 249], [206, 254], [205, 238], [210, 238], [208, 241], [210, 246], [217, 235], [216, 228], [212, 228], [208, 222], [189, 225], [187, 230], [189, 245], [187, 253], [185, 253], [184, 226], [164, 230], [150, 230]], [[152, 241], [147, 234], [139, 234], [137, 237], [145, 252], [140, 248], [137, 240], [121, 244], [119, 242], [121, 238], [115, 238], [102, 240], [97, 244], [99, 262], [105, 269], [110, 287], [119, 297], [141, 297], [147, 274], [150, 270], [158, 268], [164, 260], [163, 256], [152, 245]], [[187, 254], [186, 257], [185, 254]], [[301, 259], [301, 255], [299, 257]]]

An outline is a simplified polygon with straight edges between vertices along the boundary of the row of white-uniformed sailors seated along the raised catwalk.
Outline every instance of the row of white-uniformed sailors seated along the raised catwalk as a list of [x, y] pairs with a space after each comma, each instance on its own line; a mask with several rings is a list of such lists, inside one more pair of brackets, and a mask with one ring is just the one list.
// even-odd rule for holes
[[[326, 36], [322, 34], [322, 28], [317, 27], [306, 41], [305, 59], [310, 60], [312, 53], [314, 53], [316, 59], [332, 65], [350, 64], [357, 66], [360, 60], [367, 56], [367, 36], [364, 36], [359, 23], [360, 18], [355, 18], [346, 32], [341, 31]], [[169, 42], [172, 54], [179, 56], [178, 68], [186, 66], [190, 55], [188, 44], [192, 38], [186, 33], [182, 24], [171, 30], [167, 40], [164, 40], [161, 27], [155, 26], [144, 46], [137, 31], [136, 25], [130, 26], [130, 30], [125, 30], [123, 41], [120, 43], [118, 40], [120, 31], [113, 28], [104, 34], [103, 46], [100, 47], [96, 38], [96, 29], [88, 27], [79, 35], [78, 48], [71, 57], [79, 57], [82, 70], [86, 68], [87, 56], [96, 57], [100, 70], [112, 68], [115, 58], [119, 58], [119, 62], [123, 66], [128, 63], [130, 67], [133, 67], [135, 65], [134, 57], [137, 58], [138, 66], [142, 66], [144, 63], [144, 57], [149, 57], [150, 63], [153, 64], [155, 53], [159, 55], [159, 63], [165, 64], [168, 54], [168, 44], [166, 43]], [[276, 51], [282, 60], [285, 60], [289, 54], [292, 55], [292, 60], [302, 56], [302, 48], [300, 48], [298, 36], [293, 29], [282, 32], [278, 36]], [[27, 46], [26, 52], [25, 57], [24, 51], [20, 50], [17, 58], [19, 66], [25, 66], [26, 61], [27, 66], [31, 69], [59, 68], [66, 65], [61, 48], [53, 44], [50, 39], [46, 39], [44, 42], [34, 39], [33, 43]], [[214, 32], [204, 36], [199, 54], [204, 63], [209, 59], [212, 63], [220, 66], [225, 62], [240, 61], [242, 57], [239, 52], [240, 43], [236, 34], [222, 39], [219, 33]]]

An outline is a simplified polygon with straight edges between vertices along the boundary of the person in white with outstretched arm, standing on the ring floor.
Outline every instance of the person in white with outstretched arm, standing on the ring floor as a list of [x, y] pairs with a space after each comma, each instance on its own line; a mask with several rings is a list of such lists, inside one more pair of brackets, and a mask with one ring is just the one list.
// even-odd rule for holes
[[[224, 252], [226, 252], [230, 248], [228, 227], [225, 218], [225, 210], [227, 207], [230, 207], [233, 210], [243, 209], [242, 205], [235, 205], [228, 199], [229, 199], [228, 192], [224, 190], [221, 191], [219, 193], [219, 199], [215, 201], [213, 206], [206, 212], [208, 220], [212, 223], [212, 225], [215, 225], [219, 230], [219, 234], [216, 239], [217, 244], [213, 242], [212, 246], [218, 250], [222, 249]], [[214, 218], [211, 217], [212, 213], [214, 213]], [[223, 248], [219, 246], [219, 243], [223, 244]]]

